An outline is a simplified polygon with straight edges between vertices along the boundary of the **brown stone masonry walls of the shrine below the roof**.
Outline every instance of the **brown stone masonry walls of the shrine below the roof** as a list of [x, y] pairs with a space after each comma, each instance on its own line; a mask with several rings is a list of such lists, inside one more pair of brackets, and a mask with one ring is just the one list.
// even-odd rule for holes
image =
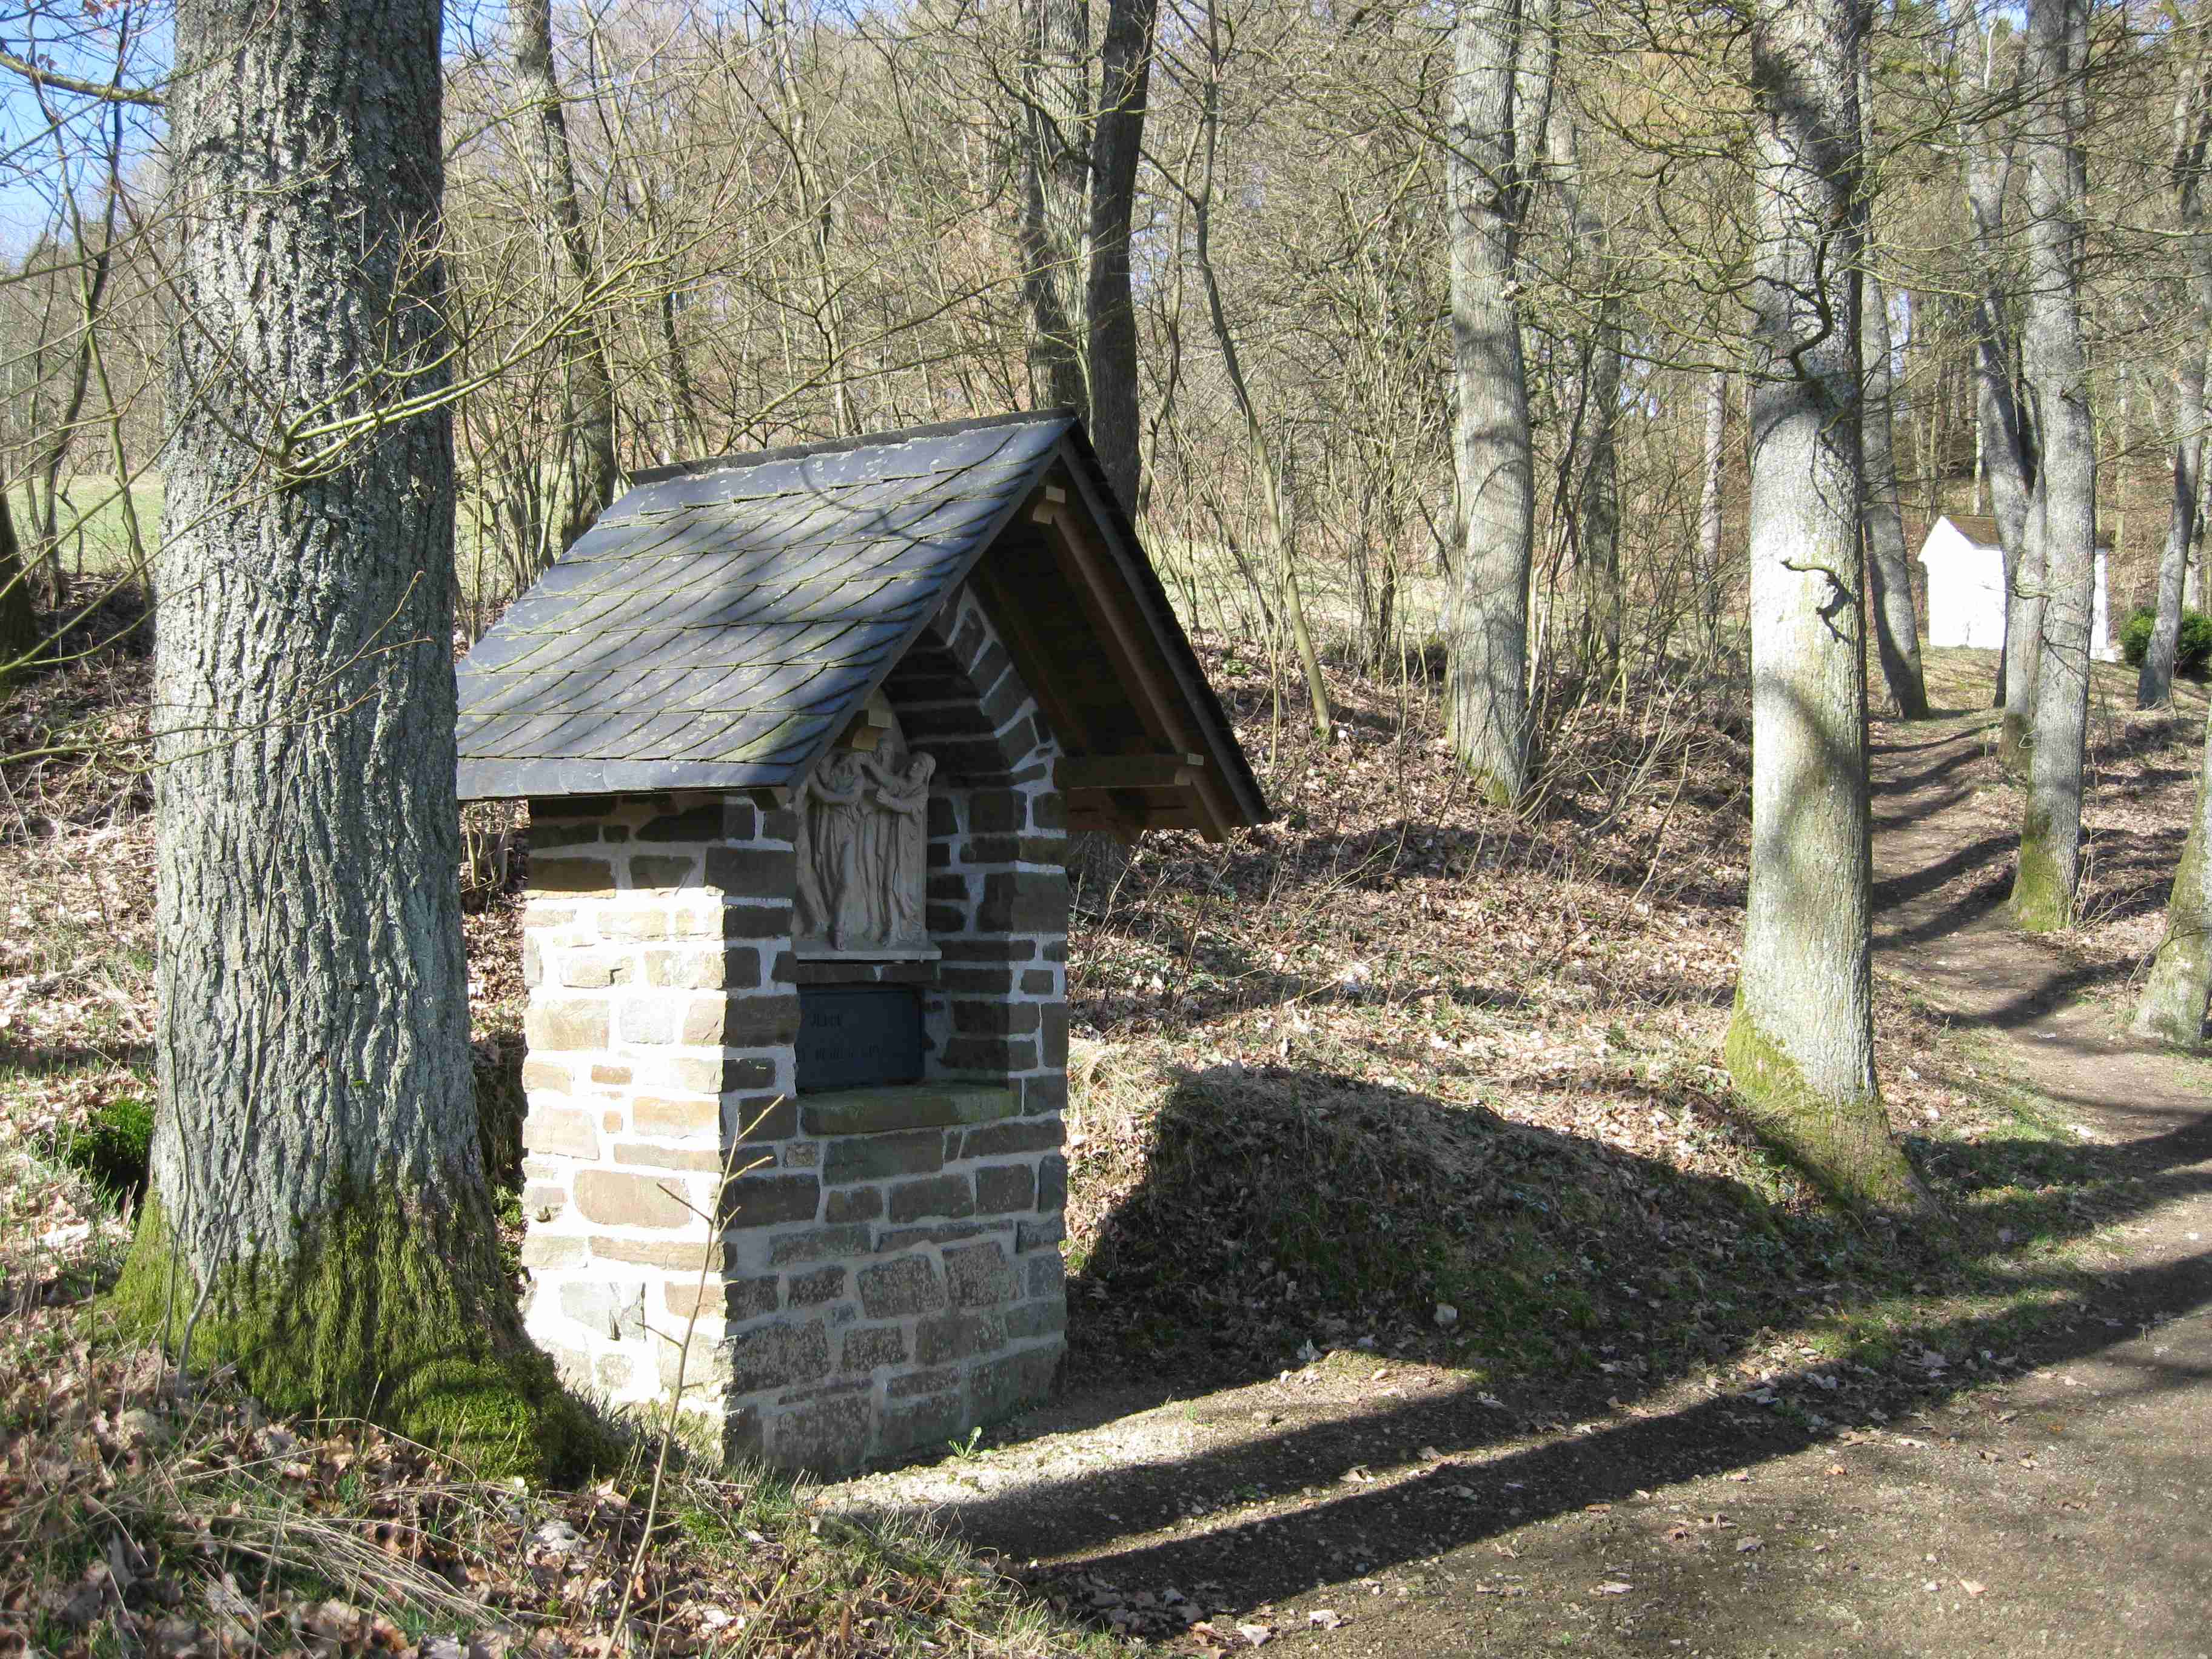
[[[763, 801], [531, 807], [531, 1336], [641, 1407], [675, 1385], [697, 1310], [701, 1438], [821, 1471], [1040, 1398], [1066, 1329], [1053, 739], [964, 593], [885, 690], [945, 781], [936, 964], [799, 962], [794, 823]], [[794, 1095], [796, 987], [856, 978], [920, 982], [925, 1082]], [[717, 1203], [726, 1166], [745, 1172]]]

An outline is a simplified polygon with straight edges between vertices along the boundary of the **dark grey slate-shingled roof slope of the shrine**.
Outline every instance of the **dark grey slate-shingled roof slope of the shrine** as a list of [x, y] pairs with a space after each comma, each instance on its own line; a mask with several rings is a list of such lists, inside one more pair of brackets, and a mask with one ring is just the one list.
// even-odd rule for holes
[[460, 796], [794, 785], [1075, 425], [648, 473], [460, 666]]

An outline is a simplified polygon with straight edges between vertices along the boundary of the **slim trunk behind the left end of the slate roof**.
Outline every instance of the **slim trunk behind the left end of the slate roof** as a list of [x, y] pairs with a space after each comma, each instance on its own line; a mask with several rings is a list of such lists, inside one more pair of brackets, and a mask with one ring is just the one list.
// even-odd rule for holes
[[560, 75], [553, 73], [553, 0], [522, 0], [515, 7], [515, 75], [538, 111], [538, 188], [544, 192], [549, 241], [555, 263], [566, 268], [584, 307], [560, 338], [566, 372], [562, 445], [568, 476], [555, 495], [564, 509], [555, 551], [566, 553], [568, 544], [622, 493], [622, 469], [615, 462], [615, 380], [606, 369], [597, 305], [586, 299], [597, 261], [584, 232], [575, 157], [568, 153], [568, 119], [562, 115]]

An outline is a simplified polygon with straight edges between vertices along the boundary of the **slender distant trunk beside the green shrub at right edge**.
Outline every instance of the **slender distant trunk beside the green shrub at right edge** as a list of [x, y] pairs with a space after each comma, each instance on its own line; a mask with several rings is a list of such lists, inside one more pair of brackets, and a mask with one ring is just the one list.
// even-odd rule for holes
[[[2197, 334], [2174, 372], [2174, 504], [2159, 557], [2159, 608], [2150, 646], [2135, 681], [2137, 708], [2166, 708], [2174, 695], [2174, 653], [2188, 588], [2190, 546], [2197, 542], [2197, 498], [2205, 453], [2205, 349], [2212, 347], [2212, 228], [2205, 226], [2205, 153], [2212, 146], [2212, 51], [2199, 40], [2197, 64], [2174, 91], [2174, 159], [2168, 168], [2174, 217], [2188, 237]], [[2117, 549], [2115, 549], [2117, 551]], [[2115, 560], [2117, 562], [2117, 560]]]

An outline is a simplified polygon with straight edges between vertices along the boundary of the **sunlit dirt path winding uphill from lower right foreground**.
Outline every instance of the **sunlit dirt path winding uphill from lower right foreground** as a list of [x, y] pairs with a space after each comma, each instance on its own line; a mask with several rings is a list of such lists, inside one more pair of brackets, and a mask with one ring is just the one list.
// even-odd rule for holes
[[1876, 741], [1882, 964], [2150, 1199], [2015, 1380], [1820, 1433], [1686, 1383], [1531, 1433], [1451, 1371], [1338, 1356], [1201, 1400], [1077, 1387], [1015, 1444], [830, 1500], [931, 1509], [1139, 1632], [1203, 1615], [1201, 1646], [2212, 1659], [2212, 1117], [2002, 927], [1984, 726]]

